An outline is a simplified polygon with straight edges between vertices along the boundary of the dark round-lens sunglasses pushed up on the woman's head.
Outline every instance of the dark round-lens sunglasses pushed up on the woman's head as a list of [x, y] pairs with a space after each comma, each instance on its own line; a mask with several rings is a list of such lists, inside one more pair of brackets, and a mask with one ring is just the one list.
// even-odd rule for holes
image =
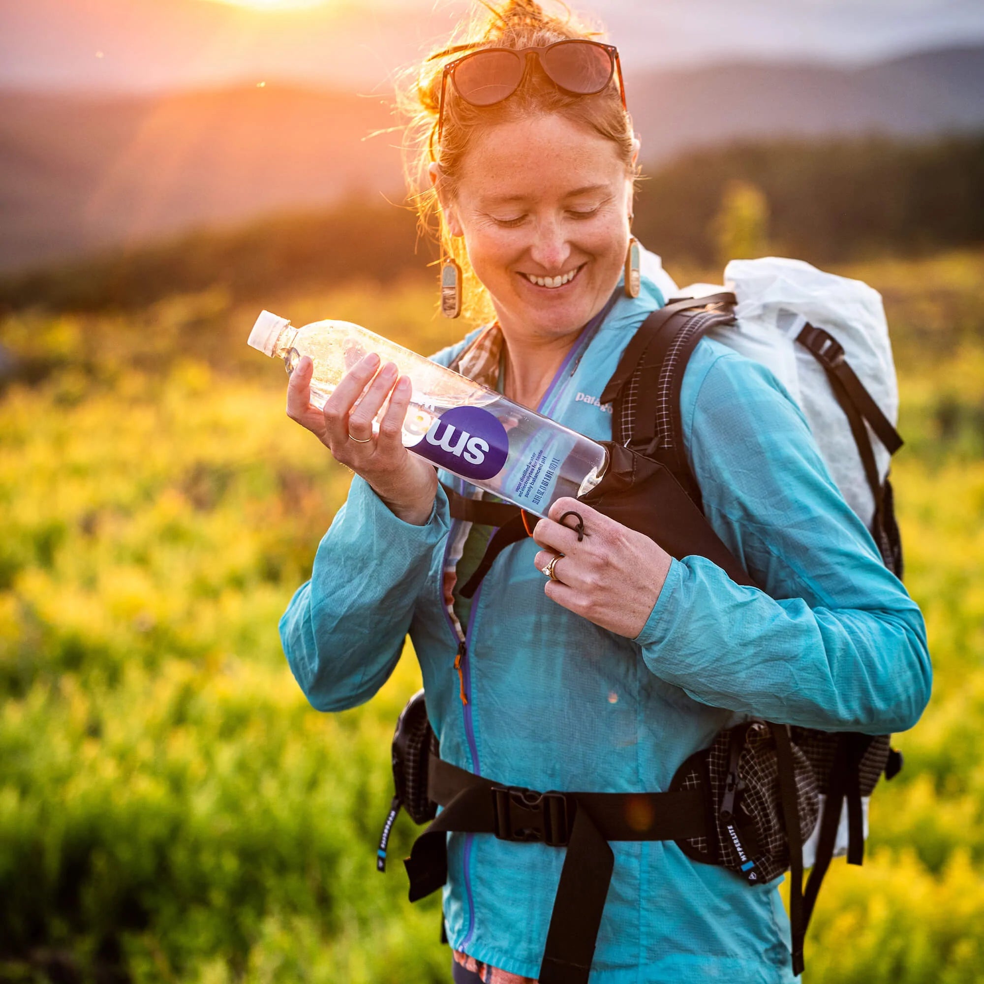
[[539, 62], [543, 74], [558, 89], [571, 95], [601, 92], [618, 74], [622, 108], [625, 109], [625, 82], [618, 49], [612, 44], [570, 38], [530, 48], [482, 48], [472, 51], [444, 67], [437, 136], [444, 128], [444, 102], [451, 79], [455, 92], [472, 106], [492, 106], [508, 99], [520, 88], [528, 59]]

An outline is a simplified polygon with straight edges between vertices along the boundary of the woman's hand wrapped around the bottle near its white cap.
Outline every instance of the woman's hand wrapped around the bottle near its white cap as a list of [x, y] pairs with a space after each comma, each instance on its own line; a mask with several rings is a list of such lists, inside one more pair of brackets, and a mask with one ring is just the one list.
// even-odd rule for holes
[[[377, 373], [378, 368], [379, 356], [370, 352], [345, 373], [325, 409], [319, 410], [311, 403], [313, 364], [305, 355], [287, 383], [287, 416], [311, 431], [336, 461], [361, 475], [400, 520], [422, 526], [434, 506], [437, 472], [400, 441], [412, 393], [409, 377], [398, 380], [392, 362]], [[374, 435], [373, 419], [388, 398], [390, 405]]]

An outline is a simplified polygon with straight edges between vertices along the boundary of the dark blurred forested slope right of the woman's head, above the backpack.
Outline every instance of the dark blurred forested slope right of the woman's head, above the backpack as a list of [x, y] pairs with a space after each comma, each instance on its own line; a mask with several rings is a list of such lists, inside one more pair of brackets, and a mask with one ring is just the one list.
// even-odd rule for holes
[[643, 182], [634, 228], [665, 257], [717, 259], [731, 182], [769, 202], [771, 248], [811, 263], [928, 255], [984, 242], [984, 137], [776, 140], [686, 154]]

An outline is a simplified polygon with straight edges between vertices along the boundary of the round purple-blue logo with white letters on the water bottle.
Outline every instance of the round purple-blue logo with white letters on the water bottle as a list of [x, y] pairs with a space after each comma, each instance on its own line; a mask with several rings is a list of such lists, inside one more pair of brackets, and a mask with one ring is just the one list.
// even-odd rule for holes
[[463, 478], [494, 478], [509, 457], [509, 437], [499, 418], [480, 406], [454, 406], [431, 424], [413, 451]]

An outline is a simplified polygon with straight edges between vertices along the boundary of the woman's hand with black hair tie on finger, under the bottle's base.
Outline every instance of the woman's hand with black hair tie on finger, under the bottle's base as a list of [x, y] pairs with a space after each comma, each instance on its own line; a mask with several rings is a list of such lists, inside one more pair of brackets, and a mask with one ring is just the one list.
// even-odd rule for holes
[[[560, 518], [576, 511], [584, 519], [584, 539]], [[543, 547], [538, 571], [558, 555], [557, 581], [547, 581], [548, 598], [595, 625], [635, 639], [646, 625], [670, 569], [670, 555], [643, 533], [616, 523], [577, 499], [558, 499], [533, 529]], [[571, 522], [570, 518], [567, 521]]]

